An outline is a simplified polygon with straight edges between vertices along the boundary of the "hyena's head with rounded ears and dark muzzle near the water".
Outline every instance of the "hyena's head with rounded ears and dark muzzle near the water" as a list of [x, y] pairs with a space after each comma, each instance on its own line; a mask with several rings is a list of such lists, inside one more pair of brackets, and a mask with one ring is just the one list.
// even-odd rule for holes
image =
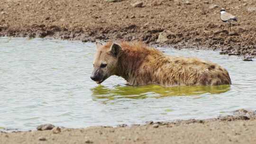
[[96, 42], [96, 47], [91, 80], [100, 84], [116, 73], [121, 46], [115, 43], [102, 45], [100, 42]]

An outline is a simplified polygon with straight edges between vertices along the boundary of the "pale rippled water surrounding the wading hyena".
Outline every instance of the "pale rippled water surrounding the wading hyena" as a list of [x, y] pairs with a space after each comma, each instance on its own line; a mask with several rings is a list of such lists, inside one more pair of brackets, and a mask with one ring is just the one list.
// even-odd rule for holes
[[98, 85], [90, 79], [92, 43], [1, 37], [0, 129], [29, 130], [45, 123], [116, 126], [217, 117], [239, 108], [256, 110], [255, 61], [208, 50], [160, 50], [219, 63], [229, 71], [233, 84], [132, 87], [112, 76]]

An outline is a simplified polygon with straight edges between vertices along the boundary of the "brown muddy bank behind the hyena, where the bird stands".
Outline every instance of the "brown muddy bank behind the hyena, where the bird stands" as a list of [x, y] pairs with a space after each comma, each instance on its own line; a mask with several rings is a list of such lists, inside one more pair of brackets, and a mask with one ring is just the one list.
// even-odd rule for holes
[[[109, 0], [111, 1], [111, 0]], [[1, 0], [0, 36], [142, 40], [256, 55], [253, 0]], [[137, 3], [136, 3], [137, 2]], [[219, 9], [238, 17], [228, 32]]]

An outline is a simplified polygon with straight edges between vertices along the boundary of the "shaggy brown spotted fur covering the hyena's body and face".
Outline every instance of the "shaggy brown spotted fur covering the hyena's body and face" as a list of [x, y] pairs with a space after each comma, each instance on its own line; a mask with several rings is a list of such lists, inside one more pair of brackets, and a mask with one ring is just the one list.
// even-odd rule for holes
[[114, 57], [110, 54], [112, 44], [108, 42], [98, 48], [94, 63], [99, 65], [102, 61], [110, 61], [105, 75], [121, 76], [129, 85], [159, 84], [168, 87], [231, 84], [229, 73], [218, 64], [197, 58], [168, 56], [141, 42], [121, 42], [121, 50]]

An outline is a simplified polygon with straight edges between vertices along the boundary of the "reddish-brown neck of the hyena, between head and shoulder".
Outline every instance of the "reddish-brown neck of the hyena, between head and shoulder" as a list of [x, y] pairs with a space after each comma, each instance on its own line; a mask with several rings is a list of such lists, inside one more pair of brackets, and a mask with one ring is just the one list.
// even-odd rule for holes
[[119, 57], [116, 75], [124, 78], [130, 85], [138, 85], [136, 78], [146, 56], [145, 52], [123, 50]]

